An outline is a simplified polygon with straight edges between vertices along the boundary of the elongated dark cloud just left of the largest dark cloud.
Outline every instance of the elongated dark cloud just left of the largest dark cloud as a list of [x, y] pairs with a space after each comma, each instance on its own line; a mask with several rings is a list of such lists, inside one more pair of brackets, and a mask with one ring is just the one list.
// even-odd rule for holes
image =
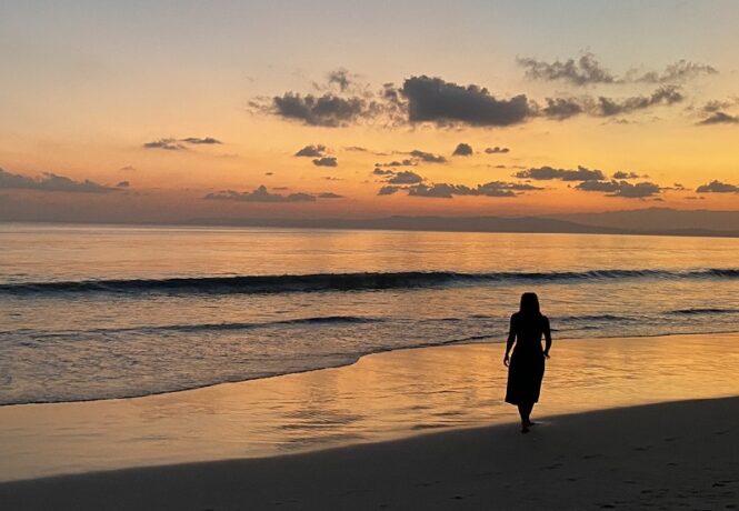
[[286, 119], [293, 119], [310, 126], [337, 128], [348, 126], [366, 117], [369, 106], [360, 97], [341, 98], [331, 92], [317, 97], [286, 92], [272, 98], [272, 112]]

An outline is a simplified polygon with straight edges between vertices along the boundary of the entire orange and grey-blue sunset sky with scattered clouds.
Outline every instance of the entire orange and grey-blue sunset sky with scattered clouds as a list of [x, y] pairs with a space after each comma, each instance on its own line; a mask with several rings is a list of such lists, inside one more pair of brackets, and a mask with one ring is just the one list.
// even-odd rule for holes
[[739, 3], [0, 0], [0, 219], [739, 209]]

